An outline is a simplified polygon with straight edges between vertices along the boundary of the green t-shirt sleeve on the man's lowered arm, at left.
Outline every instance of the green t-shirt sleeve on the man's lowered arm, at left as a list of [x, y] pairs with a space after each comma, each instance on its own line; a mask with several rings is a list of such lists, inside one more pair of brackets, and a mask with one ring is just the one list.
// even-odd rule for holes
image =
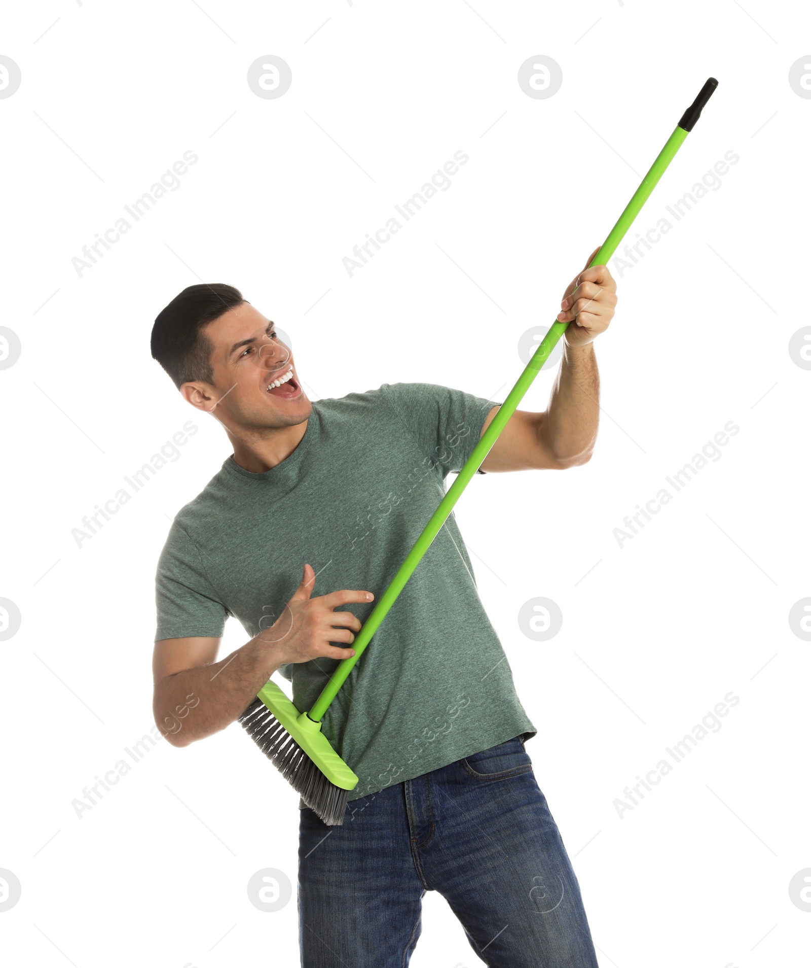
[[174, 522], [160, 553], [155, 578], [155, 641], [190, 636], [218, 639], [229, 612], [206, 574], [190, 535]]

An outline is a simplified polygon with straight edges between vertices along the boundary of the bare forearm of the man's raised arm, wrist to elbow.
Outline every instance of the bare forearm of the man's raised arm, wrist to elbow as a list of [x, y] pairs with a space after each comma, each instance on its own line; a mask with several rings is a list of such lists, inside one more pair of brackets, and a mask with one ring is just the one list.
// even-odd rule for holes
[[599, 373], [594, 344], [564, 344], [549, 407], [538, 426], [541, 445], [561, 468], [585, 464], [592, 456], [598, 424]]

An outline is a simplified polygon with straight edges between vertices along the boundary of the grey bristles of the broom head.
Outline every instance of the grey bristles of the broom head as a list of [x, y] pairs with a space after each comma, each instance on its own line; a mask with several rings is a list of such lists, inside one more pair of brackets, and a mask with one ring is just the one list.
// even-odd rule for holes
[[327, 779], [258, 696], [239, 718], [306, 805], [328, 826], [342, 825], [349, 791]]

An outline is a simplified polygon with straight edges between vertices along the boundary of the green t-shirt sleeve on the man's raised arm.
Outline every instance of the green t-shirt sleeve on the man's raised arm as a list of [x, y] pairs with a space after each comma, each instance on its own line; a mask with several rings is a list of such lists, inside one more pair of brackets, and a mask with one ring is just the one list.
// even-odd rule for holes
[[436, 383], [384, 383], [382, 389], [422, 456], [432, 457], [443, 476], [462, 469], [481, 437], [487, 414], [498, 406]]

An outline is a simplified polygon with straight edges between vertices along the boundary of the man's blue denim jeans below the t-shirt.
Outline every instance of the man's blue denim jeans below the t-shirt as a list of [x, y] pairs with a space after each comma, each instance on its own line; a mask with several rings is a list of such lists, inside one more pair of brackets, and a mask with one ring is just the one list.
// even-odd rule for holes
[[580, 889], [521, 737], [350, 801], [305, 807], [303, 968], [404, 968], [438, 891], [496, 968], [597, 968]]

